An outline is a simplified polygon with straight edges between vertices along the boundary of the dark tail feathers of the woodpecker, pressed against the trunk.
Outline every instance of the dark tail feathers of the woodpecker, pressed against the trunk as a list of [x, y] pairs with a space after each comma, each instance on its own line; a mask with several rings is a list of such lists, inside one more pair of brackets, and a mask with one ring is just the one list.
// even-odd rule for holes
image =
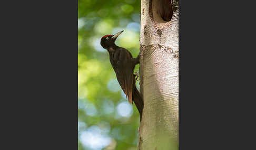
[[143, 102], [141, 94], [137, 90], [135, 84], [134, 84], [133, 92], [132, 92], [132, 101], [135, 103], [136, 108], [140, 113], [140, 119], [142, 120], [142, 112], [143, 112], [144, 102]]

